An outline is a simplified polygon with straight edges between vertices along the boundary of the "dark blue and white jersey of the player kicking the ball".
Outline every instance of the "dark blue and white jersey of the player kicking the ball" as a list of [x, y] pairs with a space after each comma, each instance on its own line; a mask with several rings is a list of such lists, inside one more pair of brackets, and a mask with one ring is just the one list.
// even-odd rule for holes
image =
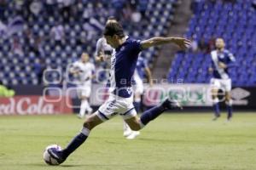
[[110, 93], [123, 98], [131, 97], [132, 76], [141, 50], [141, 42], [129, 37], [115, 49], [111, 57]]

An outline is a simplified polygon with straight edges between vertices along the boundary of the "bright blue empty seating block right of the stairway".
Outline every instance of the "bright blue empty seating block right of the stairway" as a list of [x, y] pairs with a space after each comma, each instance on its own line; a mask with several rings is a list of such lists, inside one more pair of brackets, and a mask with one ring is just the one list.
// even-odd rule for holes
[[[186, 37], [194, 37], [197, 42], [223, 37], [226, 48], [235, 55], [239, 65], [230, 70], [234, 85], [253, 86], [256, 85], [255, 30], [256, 10], [251, 6], [251, 1], [202, 1], [196, 6]], [[183, 78], [183, 82], [208, 83], [211, 77], [207, 71], [210, 64], [209, 51], [177, 53], [172, 61], [169, 81]]]

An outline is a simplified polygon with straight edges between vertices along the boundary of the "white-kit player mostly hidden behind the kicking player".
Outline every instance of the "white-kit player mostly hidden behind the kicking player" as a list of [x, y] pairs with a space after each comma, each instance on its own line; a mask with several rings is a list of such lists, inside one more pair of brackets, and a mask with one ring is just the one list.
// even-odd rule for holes
[[[106, 25], [111, 22], [118, 23], [118, 21], [112, 16], [108, 18]], [[110, 70], [111, 56], [113, 52], [114, 49], [107, 43], [105, 37], [98, 39], [96, 42], [96, 62], [102, 62], [105, 65], [106, 70]], [[107, 83], [107, 86], [109, 86], [109, 84], [110, 82]], [[139, 134], [139, 132], [132, 131], [124, 121], [124, 136], [126, 139], [135, 139]]]

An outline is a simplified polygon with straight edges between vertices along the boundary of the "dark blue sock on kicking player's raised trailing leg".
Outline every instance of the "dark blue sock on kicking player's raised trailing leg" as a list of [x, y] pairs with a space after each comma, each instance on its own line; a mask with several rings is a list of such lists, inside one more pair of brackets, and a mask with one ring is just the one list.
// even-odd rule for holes
[[163, 105], [154, 106], [148, 111], [143, 112], [143, 115], [140, 117], [141, 122], [143, 123], [144, 126], [146, 126], [148, 122], [153, 121], [157, 116], [160, 116], [160, 114], [164, 111], [166, 111], [166, 109]]

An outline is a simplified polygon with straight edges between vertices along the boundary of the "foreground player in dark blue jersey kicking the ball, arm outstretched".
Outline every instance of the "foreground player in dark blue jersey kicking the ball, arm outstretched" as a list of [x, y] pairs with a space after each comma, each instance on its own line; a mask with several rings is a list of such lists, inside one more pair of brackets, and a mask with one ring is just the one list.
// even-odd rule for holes
[[186, 48], [190, 44], [189, 40], [180, 37], [153, 37], [144, 41], [125, 38], [125, 33], [119, 23], [107, 24], [103, 35], [108, 44], [115, 48], [111, 58], [109, 99], [84, 121], [81, 132], [64, 150], [55, 148], [48, 150], [49, 154], [59, 163], [65, 161], [67, 156], [84, 143], [94, 127], [108, 121], [113, 116], [122, 116], [132, 130], [138, 131], [164, 111], [181, 107], [177, 101], [166, 99], [138, 117], [132, 105], [131, 77], [135, 71], [138, 54], [142, 50], [166, 43], [175, 43], [180, 48]]

